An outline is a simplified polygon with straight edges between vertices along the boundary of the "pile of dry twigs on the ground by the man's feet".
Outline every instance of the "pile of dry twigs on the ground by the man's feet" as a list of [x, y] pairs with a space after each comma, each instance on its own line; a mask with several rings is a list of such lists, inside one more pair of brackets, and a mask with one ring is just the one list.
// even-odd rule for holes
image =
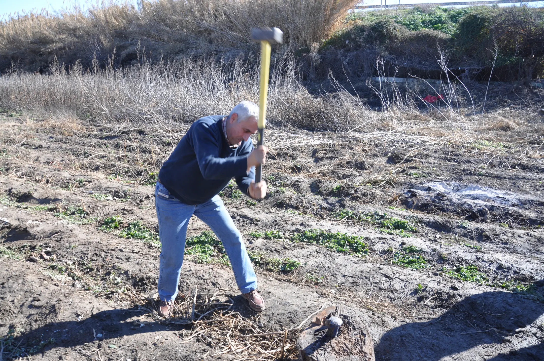
[[[181, 303], [174, 304], [173, 316], [162, 322], [193, 326], [190, 330], [183, 329], [180, 337], [183, 341], [196, 339], [213, 347], [213, 351], [206, 353], [203, 358], [223, 353], [234, 354], [240, 360], [297, 358], [296, 338], [302, 326], [315, 313], [308, 316], [298, 327], [276, 331], [270, 325], [267, 329], [261, 329], [258, 316], [245, 318], [239, 312], [231, 310], [234, 304], [232, 298], [218, 294], [219, 291], [213, 295], [198, 294], [197, 288], [193, 287]], [[151, 314], [154, 318], [159, 318], [156, 312]]]

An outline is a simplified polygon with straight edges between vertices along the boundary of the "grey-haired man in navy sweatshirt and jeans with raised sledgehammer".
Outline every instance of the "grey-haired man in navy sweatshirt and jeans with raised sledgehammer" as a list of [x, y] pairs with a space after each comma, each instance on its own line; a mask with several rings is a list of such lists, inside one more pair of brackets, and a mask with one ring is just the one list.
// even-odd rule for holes
[[[257, 277], [242, 235], [218, 194], [233, 177], [238, 188], [251, 198], [263, 198], [267, 193], [267, 185], [261, 181], [261, 165], [267, 157], [263, 128], [270, 42], [281, 42], [281, 35], [277, 28], [252, 29], [252, 37], [261, 41], [264, 49], [261, 54], [260, 108], [255, 103], [244, 101], [236, 105], [228, 116], [211, 115], [197, 120], [159, 171], [155, 207], [162, 245], [158, 282], [161, 316], [172, 314], [187, 226], [193, 214], [205, 222], [221, 241], [238, 288], [250, 308], [255, 312], [264, 310], [264, 300], [257, 292]], [[254, 148], [250, 136], [257, 132], [258, 145]]]

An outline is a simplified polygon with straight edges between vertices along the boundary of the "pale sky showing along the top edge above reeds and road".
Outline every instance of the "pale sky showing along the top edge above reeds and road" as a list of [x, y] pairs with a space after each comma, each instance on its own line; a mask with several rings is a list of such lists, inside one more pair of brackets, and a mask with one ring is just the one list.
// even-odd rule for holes
[[[128, 2], [133, 2], [136, 4], [137, 0], [128, 0]], [[364, 5], [379, 5], [381, 1], [385, 0], [366, 0], [362, 4]], [[443, 1], [462, 1], [462, 0], [443, 0]], [[97, 2], [91, 1], [91, 3]], [[437, 0], [400, 0], [401, 4], [409, 3], [436, 3]], [[64, 8], [71, 8], [73, 5], [77, 4], [82, 8], [85, 8], [85, 5], [88, 4], [88, 0], [0, 0], [0, 21], [6, 20], [9, 18], [9, 14], [21, 13], [23, 11], [35, 11], [40, 12], [42, 9], [47, 11], [61, 10]], [[390, 4], [398, 4], [398, 0], [389, 0]], [[543, 7], [544, 1], [529, 3], [531, 6]], [[508, 4], [500, 4], [501, 6]]]

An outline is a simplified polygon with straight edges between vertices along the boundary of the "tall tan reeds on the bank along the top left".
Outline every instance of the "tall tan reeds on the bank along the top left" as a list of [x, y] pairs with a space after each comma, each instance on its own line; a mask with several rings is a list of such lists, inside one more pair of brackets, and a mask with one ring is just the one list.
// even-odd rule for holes
[[[310, 47], [333, 32], [354, 0], [143, 1], [141, 9], [123, 1], [102, 1], [88, 13], [74, 8], [59, 14], [20, 14], [0, 23], [0, 70], [11, 60], [24, 69], [47, 70], [94, 57], [131, 64], [138, 53], [175, 59], [181, 55], [230, 54], [252, 49], [251, 27], [276, 26], [287, 47]], [[257, 49], [256, 46], [253, 49]], [[3, 64], [2, 64], [3, 63]]]

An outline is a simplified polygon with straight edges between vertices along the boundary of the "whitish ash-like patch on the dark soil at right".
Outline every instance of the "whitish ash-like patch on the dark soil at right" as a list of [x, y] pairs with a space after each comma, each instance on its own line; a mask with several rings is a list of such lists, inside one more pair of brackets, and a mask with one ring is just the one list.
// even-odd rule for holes
[[453, 202], [469, 203], [478, 206], [525, 206], [528, 202], [540, 202], [539, 197], [521, 195], [515, 192], [498, 190], [477, 184], [456, 182], [429, 182], [413, 187], [420, 191], [442, 192]]

